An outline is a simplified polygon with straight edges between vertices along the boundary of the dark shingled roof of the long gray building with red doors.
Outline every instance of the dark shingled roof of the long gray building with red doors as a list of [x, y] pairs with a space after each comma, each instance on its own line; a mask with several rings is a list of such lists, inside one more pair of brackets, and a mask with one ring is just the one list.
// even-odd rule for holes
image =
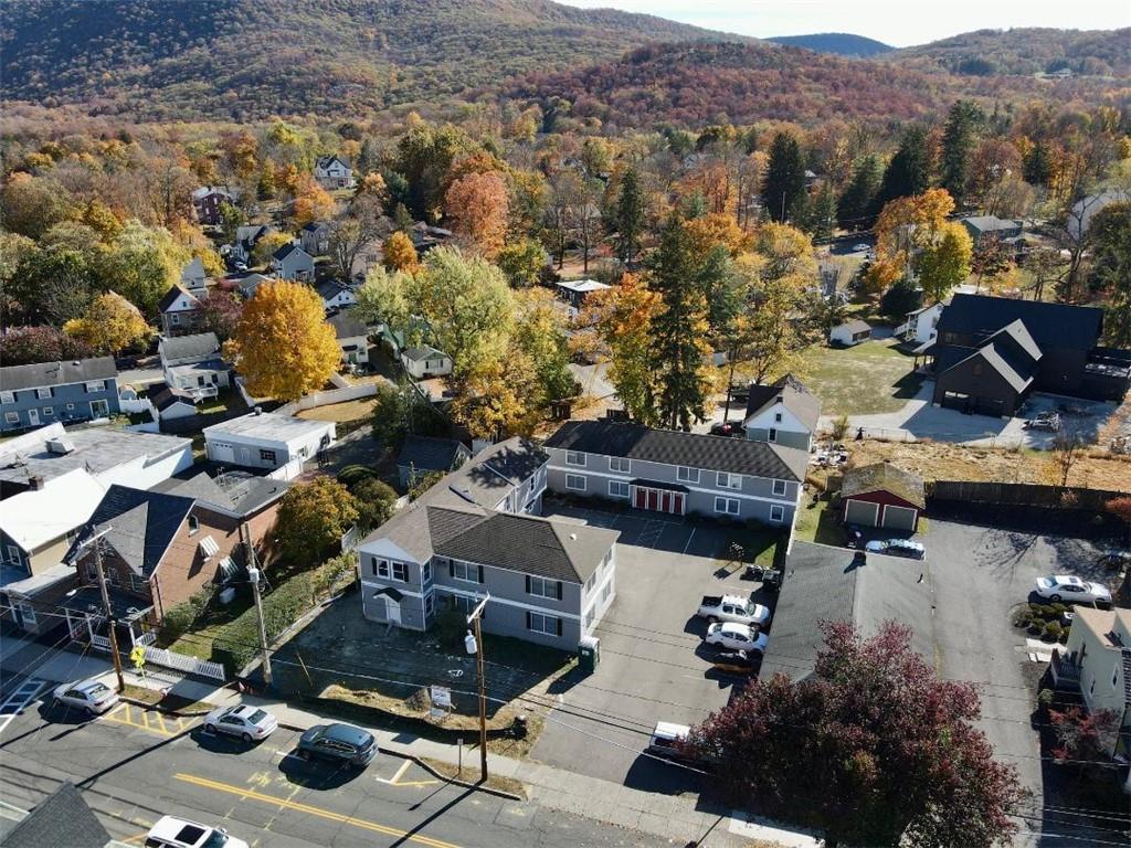
[[545, 447], [772, 479], [803, 481], [809, 467], [793, 448], [610, 421], [566, 422]]

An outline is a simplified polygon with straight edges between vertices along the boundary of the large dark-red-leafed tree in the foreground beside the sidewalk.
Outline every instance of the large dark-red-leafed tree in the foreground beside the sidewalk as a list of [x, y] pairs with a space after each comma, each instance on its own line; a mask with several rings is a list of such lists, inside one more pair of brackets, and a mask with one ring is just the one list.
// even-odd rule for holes
[[1026, 791], [973, 726], [974, 686], [938, 680], [904, 625], [822, 629], [812, 675], [757, 681], [693, 729], [729, 798], [854, 845], [1005, 842]]

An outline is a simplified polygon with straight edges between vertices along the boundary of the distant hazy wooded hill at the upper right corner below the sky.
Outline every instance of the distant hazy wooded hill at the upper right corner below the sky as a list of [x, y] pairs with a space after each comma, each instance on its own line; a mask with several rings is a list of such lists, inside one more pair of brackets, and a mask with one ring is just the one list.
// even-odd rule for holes
[[1131, 28], [978, 29], [953, 38], [907, 47], [888, 55], [895, 62], [927, 59], [955, 73], [1054, 72], [1131, 75]]

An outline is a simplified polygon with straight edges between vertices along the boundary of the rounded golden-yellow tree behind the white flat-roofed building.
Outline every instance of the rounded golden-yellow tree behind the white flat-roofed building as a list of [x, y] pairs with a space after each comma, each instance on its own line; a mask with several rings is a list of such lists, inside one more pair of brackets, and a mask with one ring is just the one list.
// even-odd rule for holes
[[295, 400], [320, 389], [342, 358], [322, 300], [291, 280], [264, 283], [225, 345], [257, 397]]

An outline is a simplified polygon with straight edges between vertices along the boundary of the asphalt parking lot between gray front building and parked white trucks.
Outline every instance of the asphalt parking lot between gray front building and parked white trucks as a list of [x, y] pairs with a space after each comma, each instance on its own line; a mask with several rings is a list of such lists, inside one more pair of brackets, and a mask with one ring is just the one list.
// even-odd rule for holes
[[616, 598], [596, 628], [601, 663], [550, 689], [558, 707], [532, 756], [590, 777], [662, 793], [694, 786], [684, 769], [641, 756], [656, 721], [693, 725], [726, 704], [741, 678], [719, 676], [694, 617], [703, 594], [749, 595], [756, 583], [716, 576], [725, 531], [672, 517], [552, 504], [554, 517], [621, 531]]

